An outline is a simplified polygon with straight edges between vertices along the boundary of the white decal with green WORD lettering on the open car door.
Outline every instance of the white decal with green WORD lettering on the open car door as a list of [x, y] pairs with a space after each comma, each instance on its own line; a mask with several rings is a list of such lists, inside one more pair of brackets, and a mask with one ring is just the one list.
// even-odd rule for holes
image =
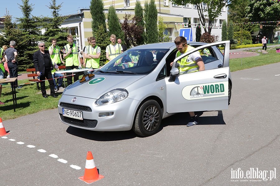
[[228, 96], [228, 82], [188, 85], [183, 88], [182, 96], [186, 100]]

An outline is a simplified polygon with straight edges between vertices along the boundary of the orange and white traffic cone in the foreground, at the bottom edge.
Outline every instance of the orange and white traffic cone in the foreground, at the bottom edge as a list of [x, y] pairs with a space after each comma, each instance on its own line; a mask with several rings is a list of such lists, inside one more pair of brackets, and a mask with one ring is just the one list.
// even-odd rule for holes
[[98, 174], [91, 151], [87, 152], [85, 174], [84, 176], [79, 177], [79, 179], [88, 184], [91, 184], [92, 182], [95, 182], [102, 178], [104, 178], [104, 176]]

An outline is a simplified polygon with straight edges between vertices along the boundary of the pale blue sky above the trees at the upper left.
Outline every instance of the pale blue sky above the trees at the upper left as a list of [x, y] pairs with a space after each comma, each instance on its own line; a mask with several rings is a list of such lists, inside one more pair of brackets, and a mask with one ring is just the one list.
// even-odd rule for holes
[[[31, 12], [31, 15], [34, 16], [49, 16], [51, 17], [51, 10], [47, 7], [50, 6], [50, 3], [52, 0], [29, 0], [29, 4], [33, 4], [32, 8], [33, 11]], [[91, 3], [91, 0], [56, 0], [56, 5], [59, 5], [62, 3], [61, 10], [59, 11], [59, 14], [61, 15], [70, 15], [78, 13], [78, 10], [89, 8], [89, 5]], [[21, 0], [4, 0], [1, 2], [1, 13], [0, 17], [5, 16], [6, 14], [6, 8], [10, 15], [12, 15], [12, 20], [15, 21], [15, 18], [22, 17], [22, 11], [19, 8], [19, 5], [22, 5]], [[80, 12], [80, 11], [79, 11]]]

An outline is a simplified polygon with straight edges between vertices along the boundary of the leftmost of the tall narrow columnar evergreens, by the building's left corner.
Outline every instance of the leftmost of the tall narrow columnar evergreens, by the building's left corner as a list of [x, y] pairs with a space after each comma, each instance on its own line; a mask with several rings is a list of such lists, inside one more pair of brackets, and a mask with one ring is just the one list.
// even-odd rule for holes
[[99, 29], [99, 25], [102, 24], [104, 32], [107, 32], [106, 28], [106, 17], [104, 14], [104, 4], [102, 0], [91, 0], [90, 5], [91, 12], [91, 28], [92, 33], [94, 33], [97, 29]]

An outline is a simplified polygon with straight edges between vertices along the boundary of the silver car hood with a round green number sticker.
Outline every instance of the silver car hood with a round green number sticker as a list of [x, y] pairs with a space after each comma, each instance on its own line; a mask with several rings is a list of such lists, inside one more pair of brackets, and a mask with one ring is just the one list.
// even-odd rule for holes
[[108, 91], [115, 88], [125, 88], [144, 76], [145, 75], [134, 74], [95, 75], [82, 83], [80, 83], [80, 80], [76, 81], [66, 88], [63, 95], [98, 99], [101, 95], [107, 93]]

